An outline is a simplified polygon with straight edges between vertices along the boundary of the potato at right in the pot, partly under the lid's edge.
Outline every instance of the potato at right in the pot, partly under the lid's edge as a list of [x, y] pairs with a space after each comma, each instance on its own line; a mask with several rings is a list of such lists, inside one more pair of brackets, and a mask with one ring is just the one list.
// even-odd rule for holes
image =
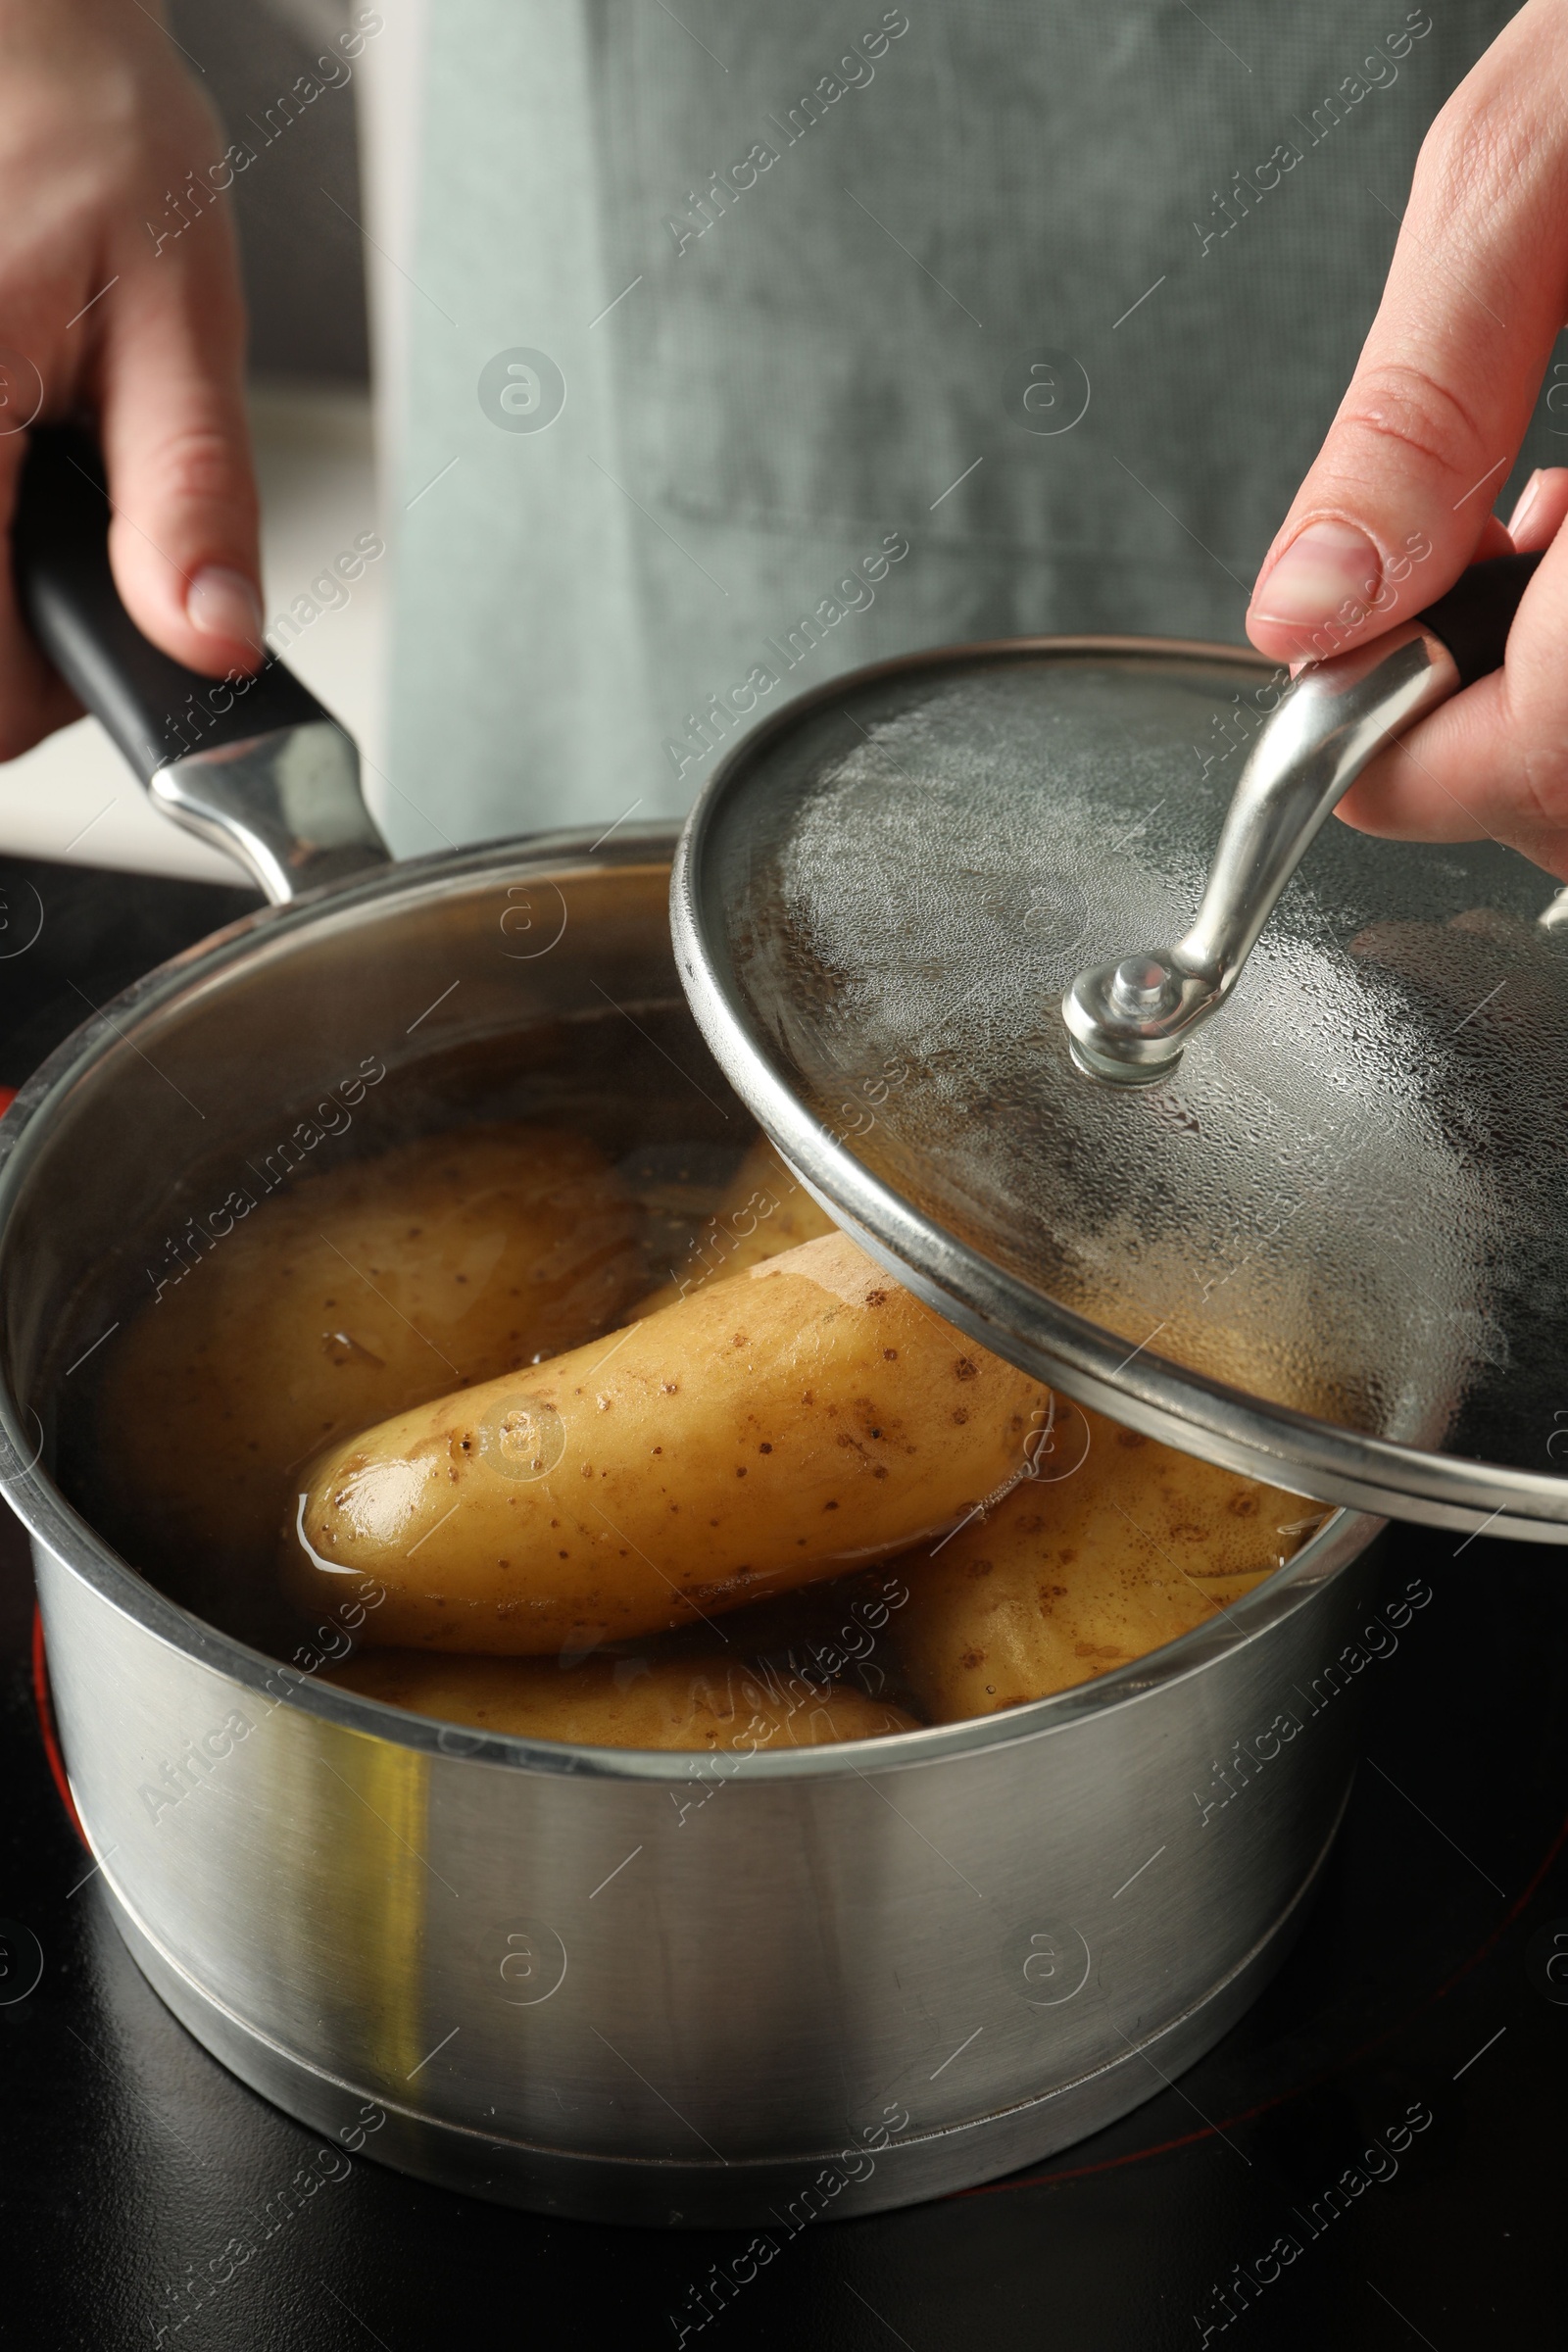
[[1079, 1470], [1018, 1484], [933, 1557], [896, 1564], [910, 1588], [898, 1651], [931, 1722], [994, 1715], [1143, 1658], [1251, 1592], [1324, 1517], [1065, 1399], [1058, 1463], [1084, 1423]]

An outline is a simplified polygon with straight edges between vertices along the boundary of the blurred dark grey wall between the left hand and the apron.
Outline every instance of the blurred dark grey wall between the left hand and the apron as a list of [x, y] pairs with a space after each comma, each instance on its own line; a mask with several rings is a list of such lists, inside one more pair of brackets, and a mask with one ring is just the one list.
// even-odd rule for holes
[[[169, 31], [193, 78], [228, 136], [256, 155], [235, 179], [235, 226], [259, 376], [369, 379], [357, 226], [362, 68], [336, 49], [348, 21], [339, 0], [169, 0]], [[327, 52], [350, 78], [268, 136], [268, 108], [275, 125], [284, 120], [280, 99]]]

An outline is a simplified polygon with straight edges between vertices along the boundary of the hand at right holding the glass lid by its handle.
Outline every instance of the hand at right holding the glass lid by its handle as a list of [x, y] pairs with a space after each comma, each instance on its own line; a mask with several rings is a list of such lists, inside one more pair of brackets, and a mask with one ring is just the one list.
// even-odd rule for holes
[[1279, 661], [1321, 659], [1408, 621], [1469, 562], [1547, 548], [1507, 666], [1389, 746], [1340, 816], [1425, 842], [1493, 835], [1559, 880], [1568, 470], [1533, 475], [1507, 532], [1490, 506], [1566, 320], [1568, 0], [1530, 0], [1422, 143], [1361, 365], [1258, 574], [1246, 626]]

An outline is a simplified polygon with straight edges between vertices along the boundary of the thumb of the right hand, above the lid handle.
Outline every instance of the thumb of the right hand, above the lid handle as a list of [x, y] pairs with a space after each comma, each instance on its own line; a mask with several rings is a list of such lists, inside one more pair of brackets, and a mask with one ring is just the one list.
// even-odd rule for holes
[[1474, 557], [1563, 320], [1568, 12], [1521, 9], [1420, 153], [1354, 381], [1253, 588], [1276, 661], [1324, 659]]

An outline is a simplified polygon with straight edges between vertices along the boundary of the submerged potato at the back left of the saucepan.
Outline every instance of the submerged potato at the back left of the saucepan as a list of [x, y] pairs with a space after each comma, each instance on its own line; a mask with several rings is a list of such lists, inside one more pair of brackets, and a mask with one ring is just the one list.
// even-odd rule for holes
[[289, 1185], [106, 1364], [118, 1510], [165, 1562], [266, 1573], [308, 1456], [602, 1331], [637, 1294], [635, 1244], [597, 1145], [545, 1127], [425, 1136]]

